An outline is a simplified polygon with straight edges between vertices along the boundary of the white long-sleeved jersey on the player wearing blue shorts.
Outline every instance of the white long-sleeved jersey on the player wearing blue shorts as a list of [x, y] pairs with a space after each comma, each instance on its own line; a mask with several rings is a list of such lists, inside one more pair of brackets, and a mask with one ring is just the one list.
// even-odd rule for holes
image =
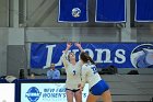
[[85, 86], [85, 82], [89, 83], [90, 89], [96, 84], [99, 80], [102, 80], [101, 76], [96, 70], [96, 66], [92, 64], [84, 64], [82, 66], [82, 86]]

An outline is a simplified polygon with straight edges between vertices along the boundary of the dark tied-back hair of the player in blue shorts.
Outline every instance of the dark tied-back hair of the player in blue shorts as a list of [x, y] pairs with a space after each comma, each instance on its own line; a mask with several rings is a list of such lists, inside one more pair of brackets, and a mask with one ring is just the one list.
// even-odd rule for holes
[[84, 63], [91, 61], [92, 64], [95, 65], [94, 60], [93, 60], [93, 59], [89, 56], [89, 54], [85, 53], [85, 52], [82, 52], [82, 53], [80, 54], [80, 58], [81, 58]]

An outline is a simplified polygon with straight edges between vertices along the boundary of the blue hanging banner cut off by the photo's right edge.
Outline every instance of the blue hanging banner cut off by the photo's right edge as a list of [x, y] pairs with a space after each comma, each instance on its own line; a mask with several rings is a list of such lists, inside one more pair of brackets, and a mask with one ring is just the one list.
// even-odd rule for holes
[[153, 22], [153, 0], [136, 0], [136, 22]]

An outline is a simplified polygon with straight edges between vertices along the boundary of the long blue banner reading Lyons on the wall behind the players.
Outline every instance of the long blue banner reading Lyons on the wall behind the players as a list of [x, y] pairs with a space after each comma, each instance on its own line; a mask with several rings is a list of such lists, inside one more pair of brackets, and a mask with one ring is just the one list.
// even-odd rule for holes
[[[117, 68], [153, 67], [153, 44], [82, 43], [81, 45], [94, 59], [97, 68], [106, 68], [110, 65], [114, 65]], [[55, 63], [57, 68], [62, 68], [63, 65], [60, 57], [66, 47], [66, 43], [32, 43], [31, 67], [48, 68], [50, 63]], [[79, 48], [73, 45], [70, 50], [74, 52], [76, 60], [79, 60]]]

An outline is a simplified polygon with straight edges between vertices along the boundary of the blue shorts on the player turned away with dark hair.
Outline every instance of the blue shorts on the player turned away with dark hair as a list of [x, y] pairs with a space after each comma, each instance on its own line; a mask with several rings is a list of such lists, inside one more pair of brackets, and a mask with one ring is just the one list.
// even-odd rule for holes
[[108, 89], [108, 84], [104, 80], [101, 80], [90, 89], [90, 92], [93, 95], [102, 95]]

